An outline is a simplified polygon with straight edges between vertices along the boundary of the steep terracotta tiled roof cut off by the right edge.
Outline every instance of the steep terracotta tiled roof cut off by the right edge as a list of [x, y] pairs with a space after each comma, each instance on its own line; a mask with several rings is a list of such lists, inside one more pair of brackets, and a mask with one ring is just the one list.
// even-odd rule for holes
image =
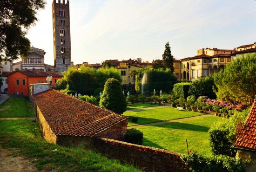
[[254, 99], [251, 112], [236, 139], [236, 146], [256, 150], [256, 98]]

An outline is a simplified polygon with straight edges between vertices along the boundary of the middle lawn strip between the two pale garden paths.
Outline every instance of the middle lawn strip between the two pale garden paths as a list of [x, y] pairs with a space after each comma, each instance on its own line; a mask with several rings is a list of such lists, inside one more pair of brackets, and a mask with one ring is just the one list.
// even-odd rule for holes
[[[202, 113], [187, 110], [177, 110], [177, 108], [174, 107], [165, 107], [135, 112], [124, 112], [123, 115], [130, 117], [128, 119], [128, 126], [136, 126], [141, 124], [149, 124], [153, 122], [167, 121], [172, 119], [188, 118], [202, 115]], [[132, 117], [137, 117], [138, 122], [132, 123]]]

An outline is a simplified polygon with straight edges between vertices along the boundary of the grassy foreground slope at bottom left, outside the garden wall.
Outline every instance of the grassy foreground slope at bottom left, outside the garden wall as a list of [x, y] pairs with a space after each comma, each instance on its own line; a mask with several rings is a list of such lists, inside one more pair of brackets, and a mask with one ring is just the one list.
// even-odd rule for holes
[[[140, 172], [93, 151], [47, 143], [41, 137], [38, 123], [31, 120], [0, 121], [0, 145], [12, 148], [13, 155], [33, 159], [38, 170], [47, 172]], [[57, 151], [53, 152], [54, 149]]]

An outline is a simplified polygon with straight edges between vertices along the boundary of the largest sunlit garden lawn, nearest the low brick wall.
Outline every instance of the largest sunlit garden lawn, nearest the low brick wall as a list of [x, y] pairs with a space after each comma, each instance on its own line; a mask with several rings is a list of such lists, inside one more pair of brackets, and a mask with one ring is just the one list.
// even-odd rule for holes
[[145, 146], [185, 154], [187, 153], [187, 139], [189, 150], [210, 155], [208, 130], [211, 124], [217, 120], [225, 120], [225, 118], [201, 117], [158, 126], [145, 126], [138, 129], [143, 132], [143, 145]]

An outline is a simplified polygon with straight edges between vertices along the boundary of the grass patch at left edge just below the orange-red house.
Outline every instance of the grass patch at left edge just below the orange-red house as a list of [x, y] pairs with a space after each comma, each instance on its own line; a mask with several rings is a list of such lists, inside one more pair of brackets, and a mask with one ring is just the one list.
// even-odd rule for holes
[[34, 110], [28, 99], [9, 97], [0, 105], [0, 118], [34, 117]]

